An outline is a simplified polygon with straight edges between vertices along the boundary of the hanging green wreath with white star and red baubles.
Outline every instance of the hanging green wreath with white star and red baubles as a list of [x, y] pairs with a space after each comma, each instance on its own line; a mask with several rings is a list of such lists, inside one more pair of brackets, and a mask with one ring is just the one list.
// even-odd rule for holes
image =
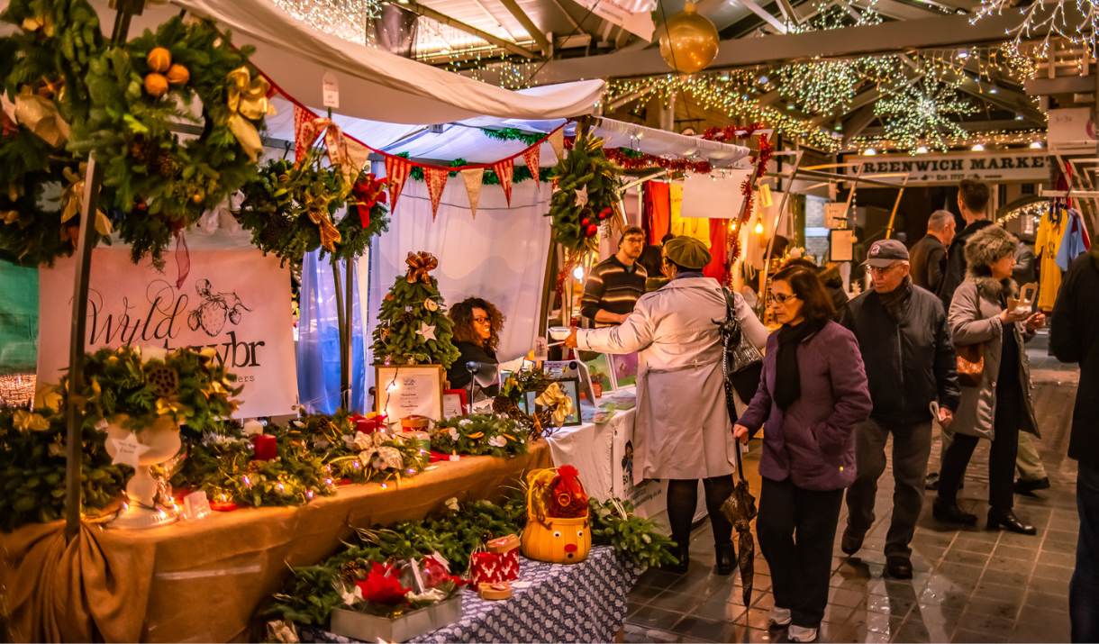
[[576, 140], [565, 158], [557, 163], [553, 178], [557, 191], [546, 216], [553, 220], [554, 240], [570, 255], [593, 251], [599, 225], [621, 216], [618, 169], [607, 159], [601, 138], [584, 135]]

